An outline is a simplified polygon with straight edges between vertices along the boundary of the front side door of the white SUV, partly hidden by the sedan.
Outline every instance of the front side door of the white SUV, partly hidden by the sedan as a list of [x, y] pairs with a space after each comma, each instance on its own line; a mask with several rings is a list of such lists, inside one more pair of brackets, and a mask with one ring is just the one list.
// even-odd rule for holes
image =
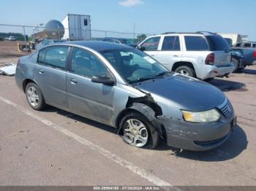
[[144, 52], [146, 52], [148, 55], [151, 55], [153, 58], [157, 58], [160, 39], [160, 36], [151, 37], [140, 44], [140, 47], [143, 47], [145, 49]]

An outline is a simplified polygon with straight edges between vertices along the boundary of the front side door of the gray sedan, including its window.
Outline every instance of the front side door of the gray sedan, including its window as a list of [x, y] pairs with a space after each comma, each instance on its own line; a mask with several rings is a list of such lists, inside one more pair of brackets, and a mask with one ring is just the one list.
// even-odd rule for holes
[[69, 108], [84, 117], [109, 124], [116, 86], [91, 82], [93, 76], [109, 74], [105, 64], [93, 53], [73, 47], [67, 74]]

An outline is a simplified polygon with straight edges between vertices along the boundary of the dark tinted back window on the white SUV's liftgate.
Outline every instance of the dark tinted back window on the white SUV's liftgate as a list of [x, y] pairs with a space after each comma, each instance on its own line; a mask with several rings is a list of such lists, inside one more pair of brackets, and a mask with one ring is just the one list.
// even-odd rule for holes
[[206, 36], [211, 51], [229, 50], [230, 46], [227, 41], [219, 35]]

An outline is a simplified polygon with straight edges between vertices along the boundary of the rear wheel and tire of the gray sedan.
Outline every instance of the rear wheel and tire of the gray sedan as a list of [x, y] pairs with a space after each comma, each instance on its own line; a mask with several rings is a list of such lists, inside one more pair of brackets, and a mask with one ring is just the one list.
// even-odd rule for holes
[[37, 111], [41, 111], [47, 106], [41, 90], [33, 82], [26, 85], [26, 100], [28, 101], [29, 106]]

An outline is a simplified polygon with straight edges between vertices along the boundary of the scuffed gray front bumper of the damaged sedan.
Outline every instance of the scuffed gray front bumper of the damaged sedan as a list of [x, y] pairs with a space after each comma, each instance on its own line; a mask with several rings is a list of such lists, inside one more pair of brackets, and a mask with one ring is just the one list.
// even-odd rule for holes
[[166, 130], [167, 145], [179, 149], [204, 151], [227, 141], [236, 125], [236, 117], [218, 122], [193, 123], [159, 116]]

